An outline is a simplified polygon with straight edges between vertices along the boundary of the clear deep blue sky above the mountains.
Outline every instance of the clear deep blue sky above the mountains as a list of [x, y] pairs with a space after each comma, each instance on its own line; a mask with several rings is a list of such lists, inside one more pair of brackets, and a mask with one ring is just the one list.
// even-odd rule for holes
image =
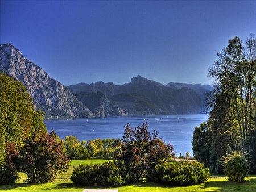
[[256, 1], [0, 1], [11, 43], [63, 85], [132, 77], [210, 85], [234, 36], [256, 36]]

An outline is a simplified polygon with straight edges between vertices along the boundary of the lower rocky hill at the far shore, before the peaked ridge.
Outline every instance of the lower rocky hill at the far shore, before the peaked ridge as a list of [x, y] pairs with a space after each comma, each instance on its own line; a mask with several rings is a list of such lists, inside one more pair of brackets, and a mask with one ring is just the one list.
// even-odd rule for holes
[[97, 117], [161, 114], [155, 103], [135, 93], [121, 93], [109, 98], [102, 92], [80, 92], [76, 97]]

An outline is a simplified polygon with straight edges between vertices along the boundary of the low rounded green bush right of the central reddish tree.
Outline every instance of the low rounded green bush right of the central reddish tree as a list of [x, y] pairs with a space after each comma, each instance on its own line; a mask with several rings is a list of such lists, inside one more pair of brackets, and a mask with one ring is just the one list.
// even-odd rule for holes
[[155, 166], [148, 174], [151, 182], [164, 185], [196, 185], [210, 177], [209, 169], [196, 161], [173, 161]]

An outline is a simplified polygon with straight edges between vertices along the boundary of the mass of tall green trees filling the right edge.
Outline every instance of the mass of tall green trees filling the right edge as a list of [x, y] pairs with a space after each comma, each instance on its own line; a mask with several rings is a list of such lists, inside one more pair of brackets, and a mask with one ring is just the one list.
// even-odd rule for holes
[[[255, 130], [256, 39], [250, 35], [245, 43], [239, 37], [217, 52], [218, 59], [208, 69], [214, 90], [205, 94], [205, 106], [210, 110], [207, 123], [195, 128], [193, 152], [212, 171], [221, 170], [220, 156], [230, 151], [252, 152], [248, 140]], [[203, 144], [203, 149], [198, 144]]]

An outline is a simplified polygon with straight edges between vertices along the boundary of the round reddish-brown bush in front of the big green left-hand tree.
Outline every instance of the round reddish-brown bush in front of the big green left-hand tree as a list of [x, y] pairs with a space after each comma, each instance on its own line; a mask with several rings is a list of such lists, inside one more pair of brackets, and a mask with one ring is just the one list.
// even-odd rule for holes
[[51, 133], [34, 133], [19, 151], [11, 143], [9, 151], [10, 163], [27, 174], [27, 182], [52, 182], [57, 174], [67, 171], [69, 167], [63, 142], [54, 130]]

